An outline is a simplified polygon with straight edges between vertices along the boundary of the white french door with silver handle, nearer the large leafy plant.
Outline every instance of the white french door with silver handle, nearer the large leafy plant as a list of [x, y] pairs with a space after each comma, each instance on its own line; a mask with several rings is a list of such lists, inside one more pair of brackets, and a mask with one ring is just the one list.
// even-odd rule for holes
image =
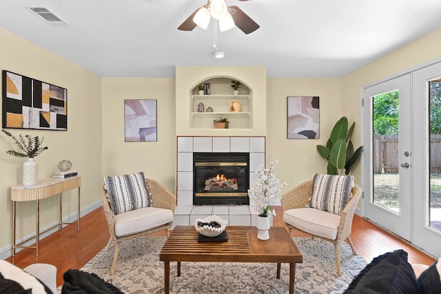
[[411, 240], [411, 75], [363, 90], [364, 216]]

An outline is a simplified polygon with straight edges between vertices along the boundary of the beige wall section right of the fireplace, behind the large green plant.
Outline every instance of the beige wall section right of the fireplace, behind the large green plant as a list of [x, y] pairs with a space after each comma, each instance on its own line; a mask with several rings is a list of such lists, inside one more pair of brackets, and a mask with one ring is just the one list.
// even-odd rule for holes
[[[320, 139], [287, 139], [287, 97], [320, 97]], [[316, 146], [326, 145], [335, 122], [346, 115], [341, 108], [340, 78], [269, 78], [267, 96], [267, 164], [278, 159], [276, 175], [287, 183], [285, 190], [326, 173], [327, 161]]]

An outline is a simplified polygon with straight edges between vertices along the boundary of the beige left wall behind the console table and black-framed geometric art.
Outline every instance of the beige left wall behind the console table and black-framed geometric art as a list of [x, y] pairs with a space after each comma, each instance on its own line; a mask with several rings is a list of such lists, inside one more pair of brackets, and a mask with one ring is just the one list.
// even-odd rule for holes
[[[61, 159], [70, 159], [83, 181], [81, 207], [99, 200], [101, 178], [101, 78], [0, 28], [0, 70], [17, 72], [68, 89], [68, 130], [14, 130], [14, 135], [45, 137], [49, 147], [36, 157], [39, 177], [49, 177]], [[0, 106], [1, 108], [1, 106]], [[0, 251], [12, 239], [10, 186], [21, 183], [25, 159], [8, 155], [16, 148], [0, 133]], [[57, 197], [41, 201], [41, 228], [57, 221]], [[17, 237], [35, 231], [35, 204], [17, 204]], [[76, 212], [76, 190], [63, 194], [63, 215]]]

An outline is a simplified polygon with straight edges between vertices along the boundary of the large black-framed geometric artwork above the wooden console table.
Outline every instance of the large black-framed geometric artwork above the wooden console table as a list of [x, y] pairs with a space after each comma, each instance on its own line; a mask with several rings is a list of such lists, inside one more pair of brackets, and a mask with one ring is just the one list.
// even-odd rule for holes
[[3, 128], [68, 130], [68, 90], [3, 70]]

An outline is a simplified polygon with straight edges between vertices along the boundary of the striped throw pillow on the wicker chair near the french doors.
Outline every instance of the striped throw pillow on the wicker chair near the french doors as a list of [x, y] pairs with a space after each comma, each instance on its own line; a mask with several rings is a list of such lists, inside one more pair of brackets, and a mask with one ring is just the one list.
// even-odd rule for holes
[[341, 215], [351, 199], [353, 176], [320, 175], [313, 179], [311, 207]]

